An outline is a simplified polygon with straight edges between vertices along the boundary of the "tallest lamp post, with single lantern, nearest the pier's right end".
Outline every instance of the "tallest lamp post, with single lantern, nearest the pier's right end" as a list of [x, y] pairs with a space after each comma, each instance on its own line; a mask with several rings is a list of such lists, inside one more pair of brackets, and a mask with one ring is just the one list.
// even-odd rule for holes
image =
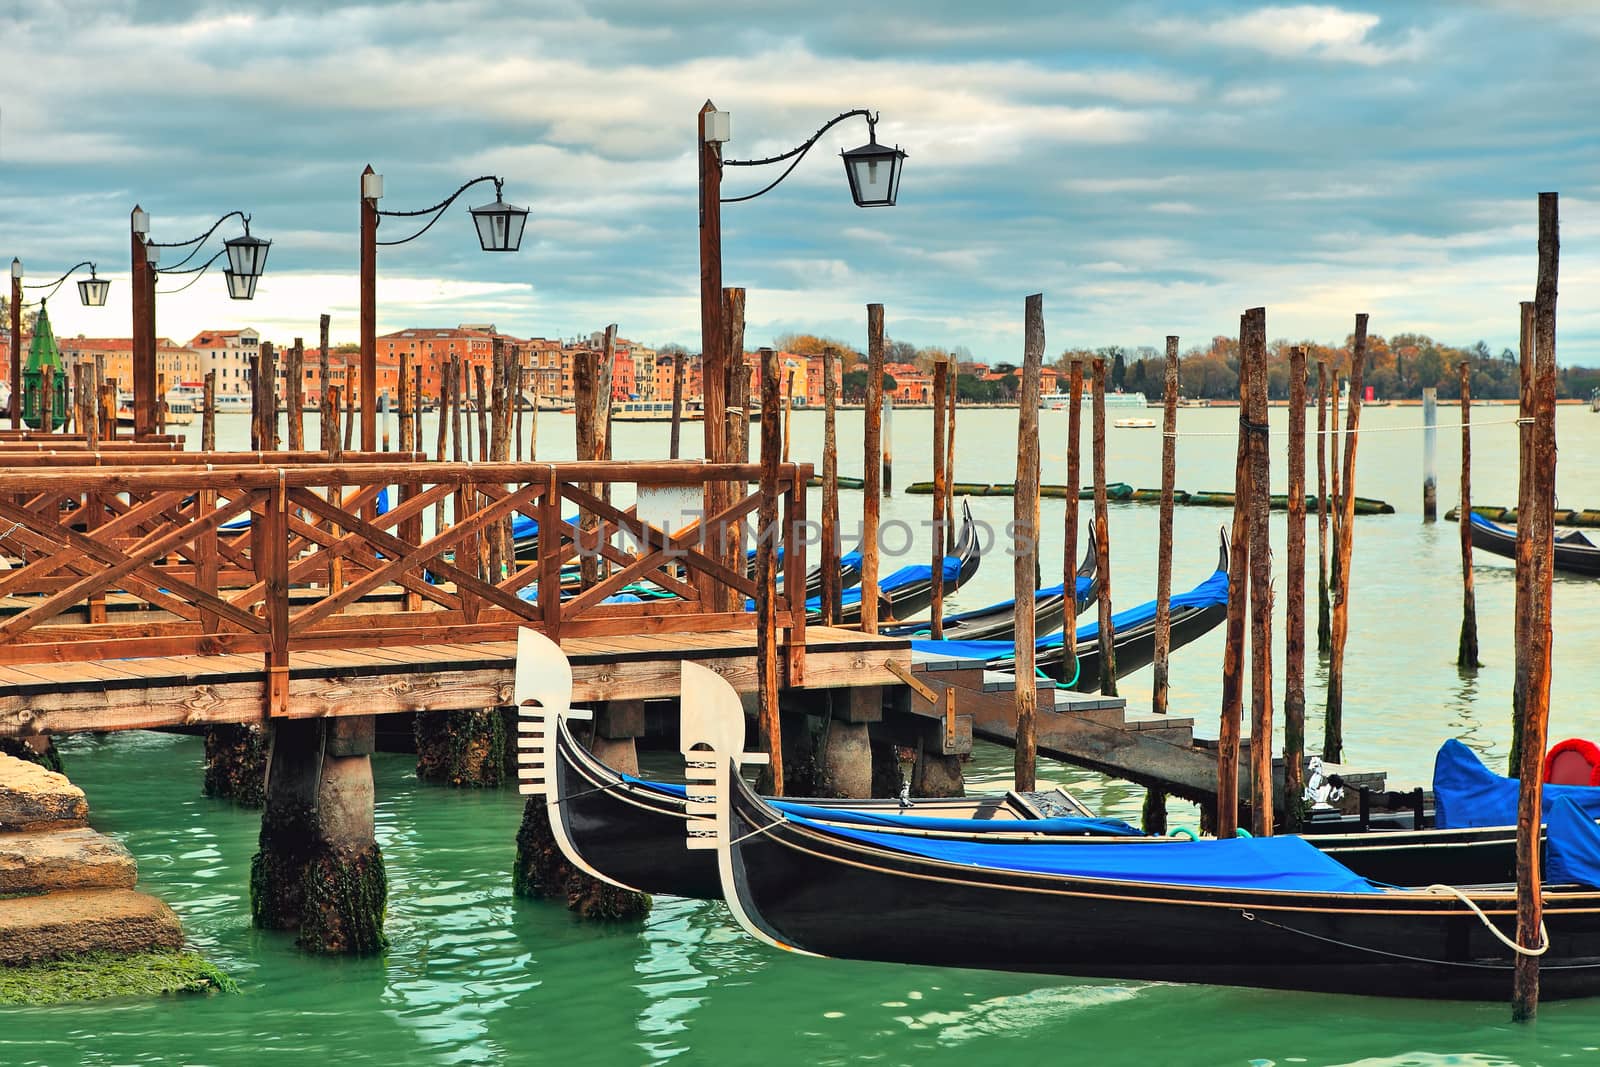
[[[722, 322], [722, 205], [755, 200], [778, 187], [818, 139], [846, 118], [867, 120], [867, 144], [842, 152], [850, 197], [858, 208], [891, 208], [899, 197], [901, 163], [906, 152], [899, 146], [878, 144], [878, 115], [866, 109], [848, 110], [827, 120], [810, 139], [762, 160], [725, 160], [722, 146], [733, 139], [733, 118], [717, 110], [710, 101], [699, 112], [699, 230], [701, 230], [701, 379], [706, 400], [706, 459], [717, 462], [726, 458], [725, 408], [728, 402], [726, 368]], [[766, 166], [794, 160], [763, 189], [742, 197], [722, 195], [722, 168]]]

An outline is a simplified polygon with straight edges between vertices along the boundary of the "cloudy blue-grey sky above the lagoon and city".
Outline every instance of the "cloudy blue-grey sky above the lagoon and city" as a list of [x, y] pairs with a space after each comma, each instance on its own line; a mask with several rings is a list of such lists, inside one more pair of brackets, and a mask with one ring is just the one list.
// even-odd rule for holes
[[[272, 238], [253, 304], [219, 274], [158, 331], [254, 325], [354, 339], [358, 173], [422, 208], [496, 173], [531, 208], [515, 256], [458, 206], [379, 253], [379, 330], [619, 323], [699, 347], [694, 115], [730, 157], [850, 107], [909, 152], [901, 205], [851, 205], [830, 131], [773, 194], [728, 205], [747, 341], [890, 333], [1016, 358], [1045, 293], [1051, 352], [1189, 342], [1267, 307], [1269, 336], [1421, 330], [1515, 344], [1534, 197], [1560, 190], [1560, 358], [1600, 362], [1600, 5], [1254, 6], [1160, 0], [0, 0], [0, 254], [29, 280], [115, 277], [64, 334], [128, 333], [128, 211], [154, 237], [235, 208]], [[730, 171], [726, 195], [765, 184]], [[467, 194], [480, 203], [488, 187]], [[400, 235], [392, 221], [384, 237]], [[165, 262], [173, 262], [168, 254]], [[182, 278], [163, 282], [176, 288]]]

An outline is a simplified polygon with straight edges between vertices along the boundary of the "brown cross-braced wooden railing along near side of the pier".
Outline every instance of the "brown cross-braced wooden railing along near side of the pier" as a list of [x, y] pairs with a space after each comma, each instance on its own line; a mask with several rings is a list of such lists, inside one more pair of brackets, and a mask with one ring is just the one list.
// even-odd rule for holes
[[[555, 638], [754, 629], [742, 549], [715, 545], [757, 510], [758, 474], [698, 462], [11, 469], [0, 474], [11, 563], [0, 662], [259, 653], [269, 707], [283, 713], [301, 649], [502, 640], [518, 625]], [[794, 590], [805, 589], [810, 475], [779, 470]], [[608, 499], [714, 482], [738, 486], [733, 504], [683, 525]], [[512, 545], [515, 515], [538, 520], [536, 552]], [[598, 557], [587, 587], [568, 569], [581, 553]], [[642, 595], [619, 597], [629, 587]], [[778, 616], [798, 683], [803, 595], [779, 592]]]

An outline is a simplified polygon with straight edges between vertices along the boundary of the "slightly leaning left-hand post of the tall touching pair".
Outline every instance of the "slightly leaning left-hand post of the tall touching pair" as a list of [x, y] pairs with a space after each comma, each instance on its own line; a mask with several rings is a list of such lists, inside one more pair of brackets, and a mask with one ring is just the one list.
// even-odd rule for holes
[[1250, 376], [1251, 315], [1238, 317], [1238, 443], [1234, 453], [1234, 525], [1227, 542], [1227, 630], [1222, 638], [1222, 717], [1216, 737], [1216, 835], [1238, 830], [1238, 736], [1243, 718], [1245, 595], [1250, 587]]

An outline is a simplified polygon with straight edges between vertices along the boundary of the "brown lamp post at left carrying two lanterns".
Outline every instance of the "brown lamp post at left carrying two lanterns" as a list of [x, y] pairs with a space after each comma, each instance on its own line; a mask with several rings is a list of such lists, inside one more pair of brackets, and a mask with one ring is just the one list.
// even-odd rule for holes
[[[245, 226], [242, 237], [230, 237], [222, 242], [221, 251], [206, 259], [198, 267], [186, 267], [216, 230], [232, 219]], [[250, 234], [250, 216], [243, 211], [229, 211], [206, 229], [200, 237], [186, 242], [154, 242], [150, 240], [150, 213], [139, 205], [133, 206], [128, 219], [131, 235], [130, 259], [133, 267], [133, 435], [149, 437], [155, 434], [155, 278], [157, 275], [195, 275], [170, 293], [182, 293], [198, 282], [222, 256], [227, 256], [224, 280], [227, 294], [235, 301], [248, 301], [256, 296], [256, 282], [267, 267], [267, 250], [272, 242]], [[192, 248], [190, 248], [192, 245]], [[189, 254], [170, 267], [162, 267], [163, 248], [190, 248]], [[80, 283], [82, 285], [82, 283]]]

